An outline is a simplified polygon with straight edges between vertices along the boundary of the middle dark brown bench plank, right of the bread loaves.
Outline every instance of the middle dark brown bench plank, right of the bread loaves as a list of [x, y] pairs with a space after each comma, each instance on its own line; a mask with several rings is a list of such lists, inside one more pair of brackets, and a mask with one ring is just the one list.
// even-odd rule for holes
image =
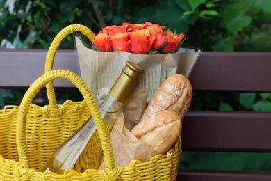
[[271, 152], [271, 113], [188, 112], [181, 134], [183, 150]]

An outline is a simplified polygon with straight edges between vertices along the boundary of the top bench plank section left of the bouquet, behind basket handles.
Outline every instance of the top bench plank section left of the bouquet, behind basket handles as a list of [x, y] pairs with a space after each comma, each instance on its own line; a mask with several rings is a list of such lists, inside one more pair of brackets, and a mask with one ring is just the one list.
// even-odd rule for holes
[[[46, 49], [0, 49], [0, 87], [28, 87], [44, 73]], [[54, 69], [66, 69], [79, 74], [77, 54], [74, 50], [58, 50]], [[55, 87], [73, 85], [56, 80]]]

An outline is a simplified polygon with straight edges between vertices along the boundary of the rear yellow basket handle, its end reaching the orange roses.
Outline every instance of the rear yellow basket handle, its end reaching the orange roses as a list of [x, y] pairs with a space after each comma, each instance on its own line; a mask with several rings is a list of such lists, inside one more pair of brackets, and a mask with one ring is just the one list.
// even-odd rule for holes
[[[45, 70], [44, 72], [47, 73], [53, 69], [54, 65], [54, 58], [56, 55], [56, 51], [61, 43], [61, 41], [68, 36], [71, 33], [74, 33], [76, 31], [79, 31], [83, 33], [83, 35], [87, 36], [89, 40], [94, 40], [95, 38], [95, 33], [93, 33], [90, 29], [88, 29], [87, 26], [84, 26], [82, 24], [71, 24], [69, 26], [66, 26], [64, 29], [62, 29], [54, 38], [54, 40], [51, 42], [51, 45], [49, 47], [49, 50], [46, 55], [46, 60], [45, 60]], [[49, 106], [52, 113], [58, 113], [58, 111], [54, 111], [58, 109], [58, 104], [56, 101], [56, 93], [54, 91], [54, 85], [53, 81], [50, 81], [47, 85], [47, 97], [49, 100]], [[58, 115], [54, 115], [58, 116]]]

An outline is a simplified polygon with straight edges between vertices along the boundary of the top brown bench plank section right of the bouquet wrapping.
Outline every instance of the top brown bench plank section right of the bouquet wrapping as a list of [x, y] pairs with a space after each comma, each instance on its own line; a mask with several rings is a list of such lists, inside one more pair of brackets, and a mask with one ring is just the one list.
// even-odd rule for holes
[[271, 52], [202, 52], [190, 81], [194, 90], [271, 90]]

